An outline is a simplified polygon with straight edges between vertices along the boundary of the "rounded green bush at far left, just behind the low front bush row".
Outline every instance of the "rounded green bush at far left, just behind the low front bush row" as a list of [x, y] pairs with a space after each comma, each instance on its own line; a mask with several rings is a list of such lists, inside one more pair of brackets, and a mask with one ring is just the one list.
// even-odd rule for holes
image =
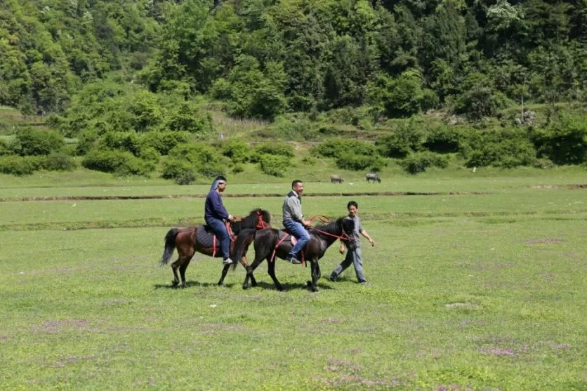
[[23, 128], [16, 132], [13, 150], [20, 156], [48, 155], [65, 146], [63, 136], [56, 131]]

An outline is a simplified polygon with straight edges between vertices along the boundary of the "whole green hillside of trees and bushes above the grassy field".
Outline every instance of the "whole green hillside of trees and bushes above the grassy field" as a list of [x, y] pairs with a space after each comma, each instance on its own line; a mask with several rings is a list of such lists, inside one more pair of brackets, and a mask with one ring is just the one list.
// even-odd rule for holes
[[291, 141], [313, 145], [301, 164], [349, 171], [583, 164], [586, 16], [584, 1], [5, 0], [0, 172], [279, 177]]

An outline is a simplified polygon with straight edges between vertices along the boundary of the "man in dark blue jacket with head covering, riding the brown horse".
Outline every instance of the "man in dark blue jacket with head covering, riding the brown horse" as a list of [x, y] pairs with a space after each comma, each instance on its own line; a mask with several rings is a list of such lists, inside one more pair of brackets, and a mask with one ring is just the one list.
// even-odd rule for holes
[[206, 203], [204, 204], [204, 219], [206, 224], [216, 234], [220, 241], [220, 251], [222, 251], [222, 263], [230, 265], [230, 235], [226, 230], [224, 220], [232, 221], [233, 218], [228, 214], [226, 208], [222, 203], [222, 195], [226, 188], [226, 178], [218, 176], [210, 187], [210, 192], [206, 196]]

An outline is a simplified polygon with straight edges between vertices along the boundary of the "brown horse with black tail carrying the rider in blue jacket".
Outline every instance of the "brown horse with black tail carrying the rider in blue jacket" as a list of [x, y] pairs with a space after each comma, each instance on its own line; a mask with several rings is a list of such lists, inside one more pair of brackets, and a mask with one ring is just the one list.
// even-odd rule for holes
[[[263, 228], [270, 228], [271, 215], [264, 209], [257, 208], [249, 216], [236, 220], [230, 224], [232, 232], [238, 234], [241, 230], [253, 229], [262, 230]], [[207, 226], [198, 225], [197, 227], [185, 227], [185, 228], [171, 228], [165, 235], [165, 248], [163, 256], [161, 256], [161, 265], [167, 265], [171, 256], [173, 256], [173, 250], [177, 248], [178, 259], [171, 264], [171, 270], [173, 270], [173, 281], [171, 284], [174, 286], [179, 284], [178, 269], [181, 277], [181, 286], [185, 287], [185, 270], [187, 265], [190, 265], [196, 251], [206, 256], [211, 257], [222, 257], [222, 251], [220, 251], [220, 243], [211, 232], [208, 232]], [[252, 239], [251, 239], [252, 240]], [[232, 247], [234, 246], [234, 240], [230, 241], [230, 253], [232, 253]], [[242, 253], [240, 258], [241, 264], [246, 268], [249, 263], [246, 261], [246, 252]], [[224, 265], [222, 275], [218, 285], [224, 284], [224, 277], [228, 272], [229, 265]], [[232, 269], [237, 267], [237, 263], [232, 263]]]

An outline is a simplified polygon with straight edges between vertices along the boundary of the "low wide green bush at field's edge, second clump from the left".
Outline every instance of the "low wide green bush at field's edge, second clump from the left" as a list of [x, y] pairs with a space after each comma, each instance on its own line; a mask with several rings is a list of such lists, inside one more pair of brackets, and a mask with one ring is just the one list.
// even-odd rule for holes
[[92, 150], [86, 154], [81, 165], [90, 170], [118, 175], [147, 175], [154, 170], [153, 164], [125, 151]]

